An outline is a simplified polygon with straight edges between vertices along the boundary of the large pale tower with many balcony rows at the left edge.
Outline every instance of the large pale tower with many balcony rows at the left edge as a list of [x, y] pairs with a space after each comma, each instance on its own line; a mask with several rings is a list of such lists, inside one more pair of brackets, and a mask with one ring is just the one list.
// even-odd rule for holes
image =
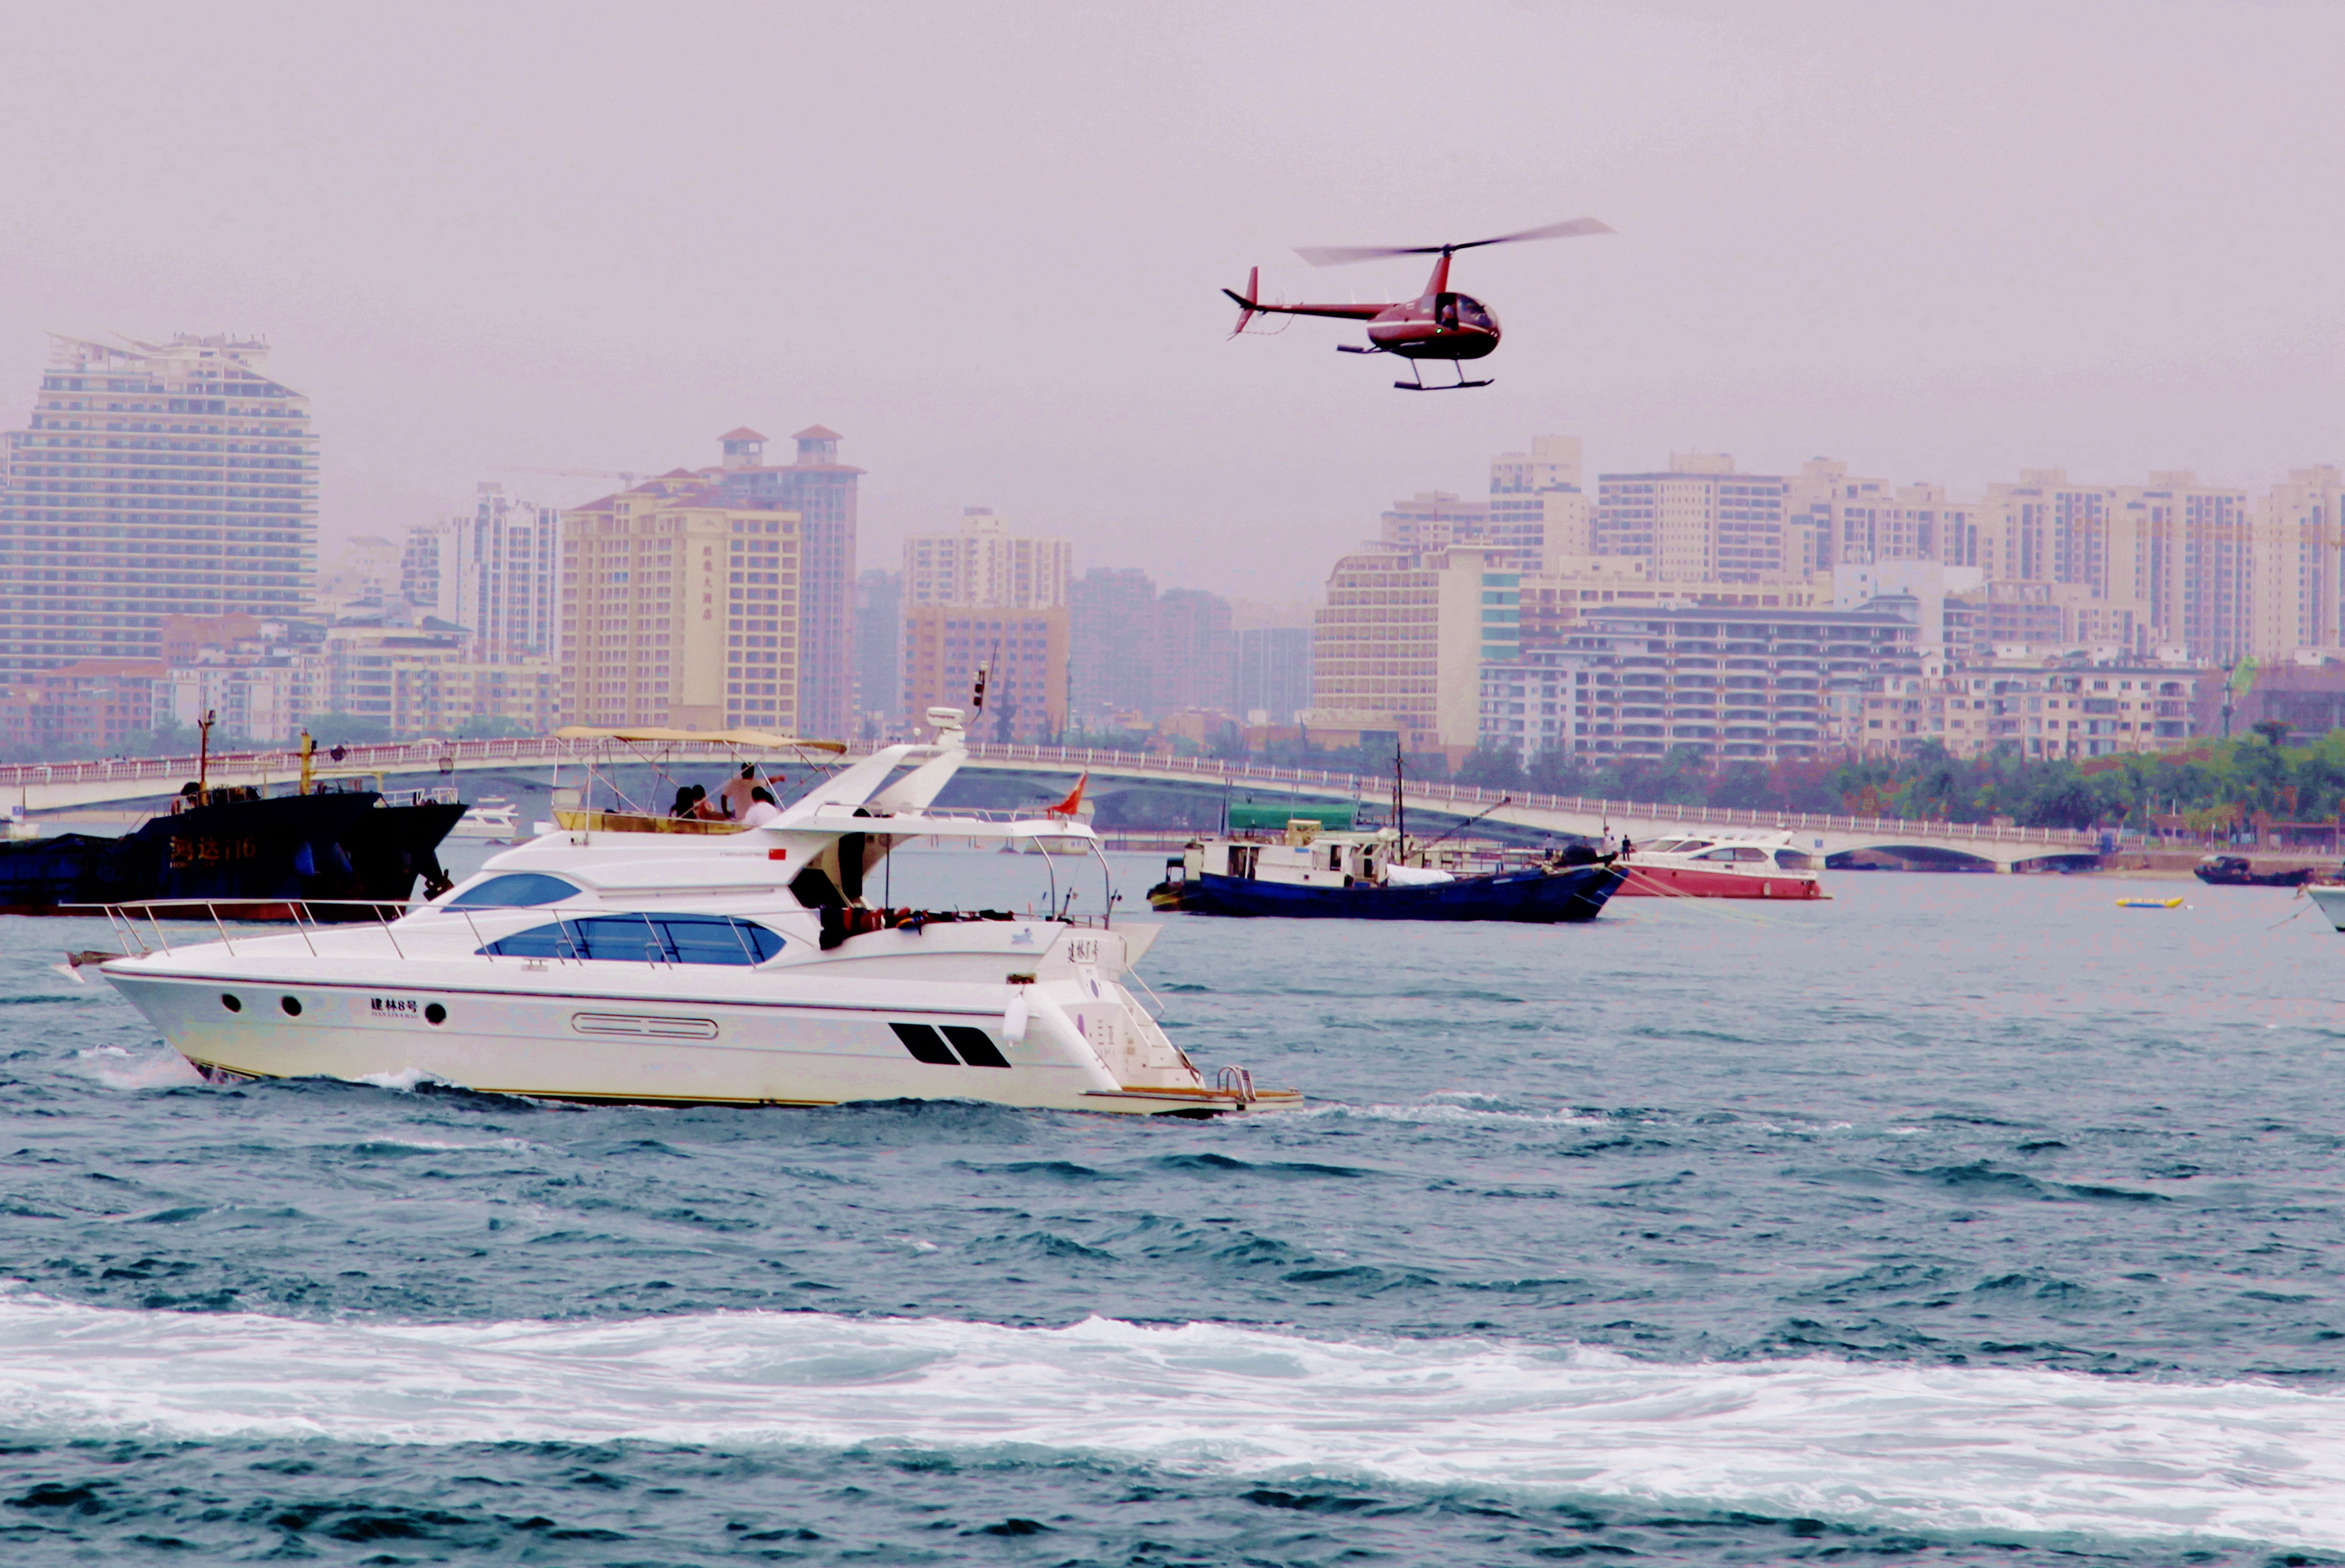
[[300, 614], [317, 579], [310, 398], [267, 345], [54, 338], [0, 434], [0, 682], [159, 659], [169, 614]]

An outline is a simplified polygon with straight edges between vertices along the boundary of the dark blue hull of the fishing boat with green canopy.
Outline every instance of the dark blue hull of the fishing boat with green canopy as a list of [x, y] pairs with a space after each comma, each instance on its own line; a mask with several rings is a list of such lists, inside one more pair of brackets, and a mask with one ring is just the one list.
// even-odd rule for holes
[[1501, 872], [1430, 886], [1304, 886], [1205, 872], [1149, 893], [1158, 909], [1344, 921], [1592, 921], [1620, 888], [1620, 870], [1576, 865], [1559, 872]]

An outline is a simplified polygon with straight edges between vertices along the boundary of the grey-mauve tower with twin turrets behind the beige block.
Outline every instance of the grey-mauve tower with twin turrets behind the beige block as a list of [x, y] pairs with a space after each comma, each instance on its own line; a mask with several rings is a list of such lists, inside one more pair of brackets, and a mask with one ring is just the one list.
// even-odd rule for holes
[[725, 464], [701, 476], [718, 483], [727, 506], [797, 516], [797, 727], [811, 738], [847, 736], [854, 731], [856, 480], [863, 469], [840, 462], [842, 436], [821, 424], [790, 436], [797, 457], [788, 466], [767, 466], [764, 436], [746, 424], [720, 441]]

